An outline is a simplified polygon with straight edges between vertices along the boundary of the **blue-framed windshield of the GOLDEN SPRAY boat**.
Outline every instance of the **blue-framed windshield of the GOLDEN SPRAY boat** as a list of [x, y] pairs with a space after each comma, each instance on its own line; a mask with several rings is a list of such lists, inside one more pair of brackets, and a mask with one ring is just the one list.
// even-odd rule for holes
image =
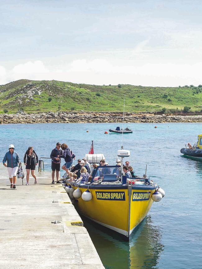
[[121, 166], [118, 166], [118, 165], [98, 166], [93, 171], [91, 183], [99, 179], [102, 179], [102, 181], [108, 181], [108, 182], [121, 179]]

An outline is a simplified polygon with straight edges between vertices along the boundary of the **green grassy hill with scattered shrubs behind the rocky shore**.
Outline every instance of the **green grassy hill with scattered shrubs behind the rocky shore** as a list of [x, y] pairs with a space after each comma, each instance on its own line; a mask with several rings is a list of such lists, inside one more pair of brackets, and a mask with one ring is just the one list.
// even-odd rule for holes
[[[200, 85], [201, 86], [201, 85]], [[120, 87], [120, 88], [119, 88]], [[200, 87], [144, 87], [120, 85], [74, 84], [56, 80], [17, 80], [0, 85], [0, 113], [57, 111], [122, 111], [126, 94], [127, 112], [154, 112], [202, 109]], [[48, 100], [49, 98], [49, 100]]]

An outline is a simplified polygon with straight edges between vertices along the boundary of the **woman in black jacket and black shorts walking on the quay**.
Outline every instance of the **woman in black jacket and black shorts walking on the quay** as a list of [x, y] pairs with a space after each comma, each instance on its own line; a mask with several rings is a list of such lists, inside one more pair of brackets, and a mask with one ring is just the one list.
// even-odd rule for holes
[[31, 175], [34, 178], [34, 184], [37, 184], [37, 179], [36, 176], [34, 175], [34, 170], [36, 165], [38, 164], [38, 156], [34, 151], [33, 147], [29, 147], [28, 150], [25, 152], [25, 156], [24, 156], [24, 165], [26, 165], [26, 171], [27, 171], [27, 175], [26, 175], [26, 179], [27, 179], [27, 183], [26, 185], [29, 185], [29, 178], [30, 178], [30, 170], [31, 170]]

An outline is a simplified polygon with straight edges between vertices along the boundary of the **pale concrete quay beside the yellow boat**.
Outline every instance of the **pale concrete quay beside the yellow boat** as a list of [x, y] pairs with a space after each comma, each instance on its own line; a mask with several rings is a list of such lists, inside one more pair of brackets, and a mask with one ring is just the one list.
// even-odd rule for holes
[[10, 189], [9, 180], [0, 180], [1, 268], [104, 269], [62, 185], [50, 178], [30, 183], [17, 179]]

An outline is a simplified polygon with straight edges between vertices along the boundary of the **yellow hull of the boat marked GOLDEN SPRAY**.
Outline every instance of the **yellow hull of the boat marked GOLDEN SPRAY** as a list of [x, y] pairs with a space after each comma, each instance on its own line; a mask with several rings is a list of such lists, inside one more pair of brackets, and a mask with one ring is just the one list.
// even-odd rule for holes
[[[73, 188], [76, 189], [77, 186], [74, 184]], [[80, 185], [79, 189], [83, 193], [87, 187]], [[131, 186], [130, 193], [127, 186], [108, 189], [91, 186], [89, 190], [92, 199], [85, 202], [79, 198], [76, 203], [80, 214], [129, 239], [132, 231], [149, 212], [155, 188], [136, 189]]]

